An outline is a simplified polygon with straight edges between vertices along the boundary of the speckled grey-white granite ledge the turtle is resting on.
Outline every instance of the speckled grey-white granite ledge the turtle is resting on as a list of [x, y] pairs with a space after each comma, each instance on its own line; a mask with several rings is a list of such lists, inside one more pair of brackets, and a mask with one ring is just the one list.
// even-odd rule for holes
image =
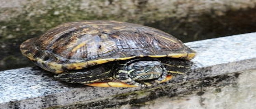
[[[0, 109], [47, 108], [84, 101], [97, 103], [101, 98], [111, 97], [109, 99], [115, 100], [120, 98], [119, 95], [129, 95], [131, 92], [140, 93], [140, 91], [151, 91], [151, 95], [155, 92], [155, 96], [158, 96], [168, 94], [170, 88], [172, 88], [172, 94], [179, 94], [185, 89], [191, 89], [179, 82], [256, 68], [255, 41], [256, 33], [247, 33], [186, 43], [187, 46], [197, 51], [198, 55], [192, 60], [194, 65], [191, 71], [182, 77], [183, 81], [174, 79], [170, 83], [148, 88], [97, 88], [68, 84], [55, 79], [53, 74], [37, 67], [2, 71], [0, 72]], [[155, 91], [156, 89], [161, 89], [159, 91], [161, 93]], [[115, 103], [118, 104], [118, 102]]]

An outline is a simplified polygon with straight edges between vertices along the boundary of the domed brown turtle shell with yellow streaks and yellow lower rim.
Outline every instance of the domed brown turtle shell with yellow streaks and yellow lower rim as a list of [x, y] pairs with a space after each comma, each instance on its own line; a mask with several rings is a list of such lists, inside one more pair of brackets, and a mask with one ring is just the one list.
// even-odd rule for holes
[[20, 45], [35, 64], [54, 73], [138, 57], [194, 58], [195, 51], [161, 30], [119, 21], [68, 22]]

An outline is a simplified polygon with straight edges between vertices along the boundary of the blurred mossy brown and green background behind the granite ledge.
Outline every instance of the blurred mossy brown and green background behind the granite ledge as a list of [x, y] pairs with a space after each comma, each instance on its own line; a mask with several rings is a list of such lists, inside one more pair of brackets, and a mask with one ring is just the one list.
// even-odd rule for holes
[[69, 21], [127, 21], [160, 29], [183, 42], [256, 31], [256, 0], [0, 0], [0, 4], [0, 71], [33, 66], [21, 55], [19, 44]]

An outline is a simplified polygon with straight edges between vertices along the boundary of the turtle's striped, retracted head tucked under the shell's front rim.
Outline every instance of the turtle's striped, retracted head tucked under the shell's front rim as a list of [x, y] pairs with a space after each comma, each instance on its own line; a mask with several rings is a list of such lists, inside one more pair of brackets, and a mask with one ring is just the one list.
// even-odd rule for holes
[[123, 64], [115, 73], [114, 78], [129, 85], [144, 87], [153, 82], [161, 83], [166, 76], [167, 72], [161, 61], [134, 59]]

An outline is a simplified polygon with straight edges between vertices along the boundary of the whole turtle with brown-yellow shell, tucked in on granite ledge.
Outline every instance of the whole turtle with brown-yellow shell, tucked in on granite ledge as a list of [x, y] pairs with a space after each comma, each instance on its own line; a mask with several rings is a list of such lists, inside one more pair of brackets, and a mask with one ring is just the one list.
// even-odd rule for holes
[[20, 45], [24, 56], [55, 78], [96, 87], [147, 87], [167, 82], [172, 60], [196, 52], [161, 30], [114, 20], [73, 21]]

